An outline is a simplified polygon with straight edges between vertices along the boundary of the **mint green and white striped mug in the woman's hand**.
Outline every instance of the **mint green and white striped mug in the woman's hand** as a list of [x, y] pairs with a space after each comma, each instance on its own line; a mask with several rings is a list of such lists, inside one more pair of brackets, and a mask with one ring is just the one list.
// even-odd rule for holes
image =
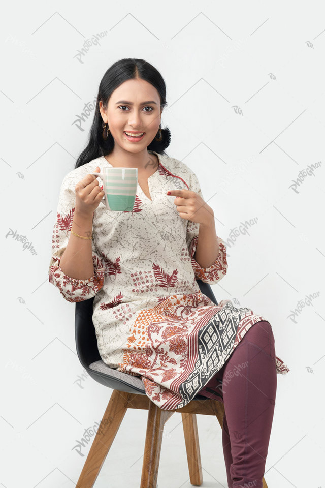
[[102, 173], [90, 173], [103, 180], [107, 210], [132, 211], [138, 187], [138, 168], [104, 168]]

